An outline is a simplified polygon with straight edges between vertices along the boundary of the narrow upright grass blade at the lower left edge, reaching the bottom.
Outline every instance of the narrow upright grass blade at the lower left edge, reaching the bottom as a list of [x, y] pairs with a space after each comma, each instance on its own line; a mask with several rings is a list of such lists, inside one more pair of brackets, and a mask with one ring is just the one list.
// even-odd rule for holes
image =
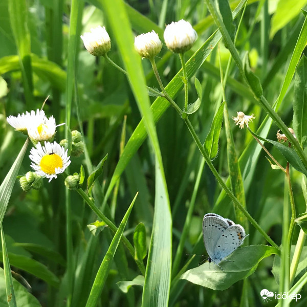
[[8, 257], [8, 251], [5, 244], [5, 238], [3, 233], [3, 227], [0, 226], [1, 231], [1, 241], [2, 241], [2, 256], [3, 256], [3, 267], [4, 267], [4, 277], [5, 277], [5, 285], [6, 285], [6, 293], [9, 307], [17, 307], [15, 292], [13, 287], [13, 279], [11, 274], [10, 261]]

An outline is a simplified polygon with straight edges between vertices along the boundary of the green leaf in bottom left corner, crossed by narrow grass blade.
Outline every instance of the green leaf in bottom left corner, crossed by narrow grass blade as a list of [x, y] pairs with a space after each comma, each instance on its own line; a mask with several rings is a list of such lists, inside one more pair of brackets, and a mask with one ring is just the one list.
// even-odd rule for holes
[[[39, 301], [17, 280], [13, 278], [16, 304], [19, 307], [41, 307]], [[4, 270], [0, 268], [0, 306], [7, 307], [8, 300], [5, 291]]]

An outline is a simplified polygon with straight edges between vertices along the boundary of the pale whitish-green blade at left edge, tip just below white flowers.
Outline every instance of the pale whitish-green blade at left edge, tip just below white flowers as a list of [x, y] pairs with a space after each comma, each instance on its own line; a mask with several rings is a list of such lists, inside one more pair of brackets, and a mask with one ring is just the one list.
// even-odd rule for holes
[[7, 176], [5, 177], [4, 181], [2, 182], [0, 186], [0, 225], [2, 225], [3, 217], [5, 214], [5, 211], [7, 209], [12, 189], [16, 180], [16, 177], [18, 175], [18, 171], [21, 165], [21, 162], [23, 162], [27, 147], [29, 144], [29, 139], [26, 140], [23, 148], [21, 148], [19, 155], [17, 156], [14, 164], [12, 165], [10, 171], [7, 173]]

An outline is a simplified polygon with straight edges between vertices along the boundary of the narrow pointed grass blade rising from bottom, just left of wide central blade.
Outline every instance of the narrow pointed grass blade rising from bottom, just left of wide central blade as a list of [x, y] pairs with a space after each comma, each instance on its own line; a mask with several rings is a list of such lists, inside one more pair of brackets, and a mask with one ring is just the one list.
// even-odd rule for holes
[[114, 254], [115, 254], [117, 247], [119, 245], [121, 236], [124, 232], [125, 226], [126, 226], [127, 221], [128, 221], [128, 217], [129, 217], [131, 210], [133, 208], [133, 205], [136, 201], [137, 195], [138, 195], [138, 193], [136, 194], [136, 196], [133, 199], [133, 201], [131, 202], [126, 214], [124, 215], [124, 217], [123, 217], [123, 219], [122, 219], [122, 221], [121, 221], [121, 223], [118, 227], [118, 230], [116, 231], [116, 233], [114, 235], [114, 238], [111, 242], [111, 245], [109, 246], [109, 248], [108, 248], [108, 250], [107, 250], [107, 252], [106, 252], [106, 254], [105, 254], [105, 256], [104, 256], [104, 258], [101, 262], [100, 268], [97, 272], [97, 275], [96, 275], [94, 283], [93, 283], [93, 287], [92, 287], [90, 296], [87, 299], [86, 307], [96, 307], [96, 305], [98, 303], [98, 299], [99, 299], [99, 296], [100, 296], [101, 291], [103, 289], [105, 280], [108, 276], [108, 272], [109, 272], [109, 270], [111, 269], [111, 266], [112, 266], [112, 260], [113, 260]]

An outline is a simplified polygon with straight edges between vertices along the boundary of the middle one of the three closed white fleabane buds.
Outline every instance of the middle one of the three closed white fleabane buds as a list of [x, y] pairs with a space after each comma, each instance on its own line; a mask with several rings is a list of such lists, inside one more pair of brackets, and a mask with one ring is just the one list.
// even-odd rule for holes
[[135, 49], [141, 57], [154, 58], [162, 48], [162, 41], [155, 31], [143, 33], [135, 38]]

